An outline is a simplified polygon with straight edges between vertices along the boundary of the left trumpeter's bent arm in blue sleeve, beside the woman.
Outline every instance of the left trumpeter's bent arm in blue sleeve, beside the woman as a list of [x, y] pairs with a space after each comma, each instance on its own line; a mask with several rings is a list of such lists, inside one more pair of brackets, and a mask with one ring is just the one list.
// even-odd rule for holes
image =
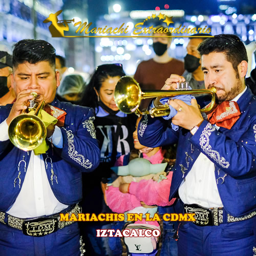
[[[75, 115], [75, 113], [74, 113]], [[62, 127], [61, 133], [63, 146], [61, 158], [76, 166], [82, 172], [91, 172], [99, 165], [100, 150], [96, 139], [93, 125], [94, 111], [86, 107], [79, 107], [74, 120], [79, 120], [79, 124], [74, 130], [74, 123]], [[69, 127], [73, 128], [72, 130]]]

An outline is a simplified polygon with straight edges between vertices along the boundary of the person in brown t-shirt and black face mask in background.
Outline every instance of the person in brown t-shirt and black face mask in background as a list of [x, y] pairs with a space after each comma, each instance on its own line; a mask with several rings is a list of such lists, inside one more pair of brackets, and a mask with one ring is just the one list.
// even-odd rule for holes
[[[156, 27], [157, 30], [163, 26]], [[136, 70], [134, 79], [140, 84], [141, 88], [149, 90], [160, 90], [164, 81], [170, 74], [182, 75], [184, 72], [183, 62], [168, 55], [168, 48], [172, 42], [170, 32], [152, 34], [153, 50], [156, 53], [154, 58], [142, 61]], [[158, 37], [155, 37], [158, 36]]]

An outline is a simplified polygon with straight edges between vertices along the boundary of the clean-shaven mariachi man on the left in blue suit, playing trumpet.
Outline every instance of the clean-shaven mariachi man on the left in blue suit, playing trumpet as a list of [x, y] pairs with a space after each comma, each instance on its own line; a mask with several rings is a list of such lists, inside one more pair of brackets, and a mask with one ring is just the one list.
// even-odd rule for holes
[[[0, 111], [0, 254], [80, 255], [78, 224], [60, 222], [59, 213], [81, 211], [81, 173], [99, 163], [93, 110], [55, 98], [59, 72], [47, 41], [15, 44], [11, 80], [16, 101]], [[45, 100], [49, 126], [47, 143], [26, 152], [10, 143], [8, 125], [28, 108], [31, 92], [35, 102]]]

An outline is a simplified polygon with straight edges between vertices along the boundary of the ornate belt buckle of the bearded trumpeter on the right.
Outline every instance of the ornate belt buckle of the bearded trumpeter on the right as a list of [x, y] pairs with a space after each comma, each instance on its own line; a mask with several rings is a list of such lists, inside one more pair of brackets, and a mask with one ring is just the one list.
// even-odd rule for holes
[[214, 219], [212, 212], [208, 208], [204, 208], [198, 204], [184, 204], [184, 209], [187, 214], [195, 214], [196, 221], [192, 221], [197, 226], [212, 226]]

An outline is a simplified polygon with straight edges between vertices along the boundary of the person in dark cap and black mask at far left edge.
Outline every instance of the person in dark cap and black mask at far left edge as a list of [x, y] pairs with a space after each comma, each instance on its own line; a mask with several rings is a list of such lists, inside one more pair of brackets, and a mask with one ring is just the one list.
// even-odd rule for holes
[[15, 92], [11, 87], [12, 56], [0, 51], [0, 105], [13, 103]]

